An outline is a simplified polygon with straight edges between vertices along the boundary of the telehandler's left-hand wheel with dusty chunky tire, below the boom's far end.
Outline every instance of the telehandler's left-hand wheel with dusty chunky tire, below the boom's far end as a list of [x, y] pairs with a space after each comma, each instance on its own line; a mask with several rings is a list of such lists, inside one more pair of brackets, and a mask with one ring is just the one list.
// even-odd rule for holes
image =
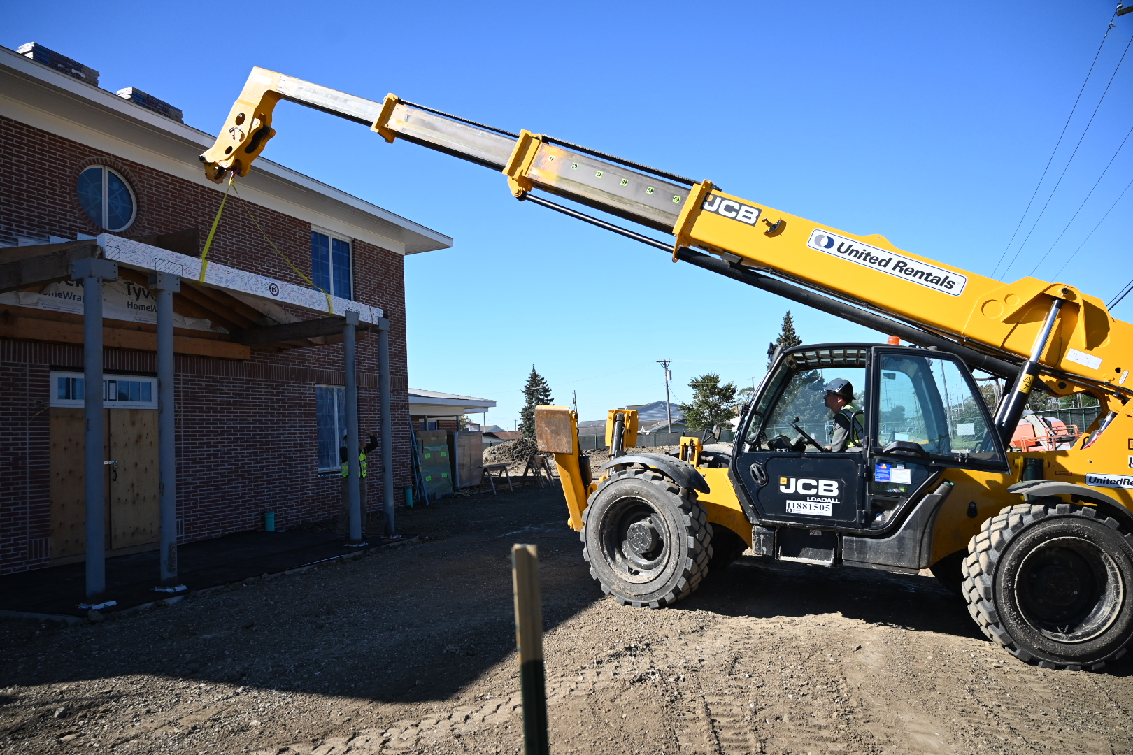
[[654, 470], [620, 470], [582, 514], [582, 557], [590, 576], [619, 603], [672, 606], [708, 573], [707, 518], [695, 490]]

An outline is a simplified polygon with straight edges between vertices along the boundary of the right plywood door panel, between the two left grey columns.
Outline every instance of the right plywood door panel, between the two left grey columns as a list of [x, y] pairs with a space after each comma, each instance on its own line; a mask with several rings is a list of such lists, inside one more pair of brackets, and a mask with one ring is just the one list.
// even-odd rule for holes
[[108, 454], [118, 462], [110, 475], [110, 547], [157, 542], [157, 410], [114, 409], [108, 414]]

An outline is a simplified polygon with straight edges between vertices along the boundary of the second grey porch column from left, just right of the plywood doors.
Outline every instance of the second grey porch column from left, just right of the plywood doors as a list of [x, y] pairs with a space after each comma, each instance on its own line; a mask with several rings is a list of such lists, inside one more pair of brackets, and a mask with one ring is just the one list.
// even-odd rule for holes
[[177, 435], [173, 407], [173, 294], [181, 278], [151, 273], [150, 290], [157, 302], [157, 470], [161, 497], [161, 585], [177, 585]]

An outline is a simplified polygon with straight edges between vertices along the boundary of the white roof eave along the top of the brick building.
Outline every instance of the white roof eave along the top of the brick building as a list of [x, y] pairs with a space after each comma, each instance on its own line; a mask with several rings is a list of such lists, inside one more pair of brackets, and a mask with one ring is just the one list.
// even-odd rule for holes
[[[0, 115], [223, 190], [205, 178], [198, 160], [213, 136], [2, 46]], [[262, 157], [240, 190], [249, 201], [398, 254], [452, 246], [443, 233]]]

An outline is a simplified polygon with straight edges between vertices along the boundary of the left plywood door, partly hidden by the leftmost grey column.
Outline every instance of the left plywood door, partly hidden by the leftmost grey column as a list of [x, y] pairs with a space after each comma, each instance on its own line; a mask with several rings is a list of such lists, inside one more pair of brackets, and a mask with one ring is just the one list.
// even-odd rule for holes
[[[103, 417], [109, 413], [104, 411]], [[86, 475], [83, 453], [86, 447], [86, 422], [83, 410], [52, 409], [50, 428], [51, 556], [77, 556], [86, 552]], [[109, 548], [109, 507], [105, 526]]]

